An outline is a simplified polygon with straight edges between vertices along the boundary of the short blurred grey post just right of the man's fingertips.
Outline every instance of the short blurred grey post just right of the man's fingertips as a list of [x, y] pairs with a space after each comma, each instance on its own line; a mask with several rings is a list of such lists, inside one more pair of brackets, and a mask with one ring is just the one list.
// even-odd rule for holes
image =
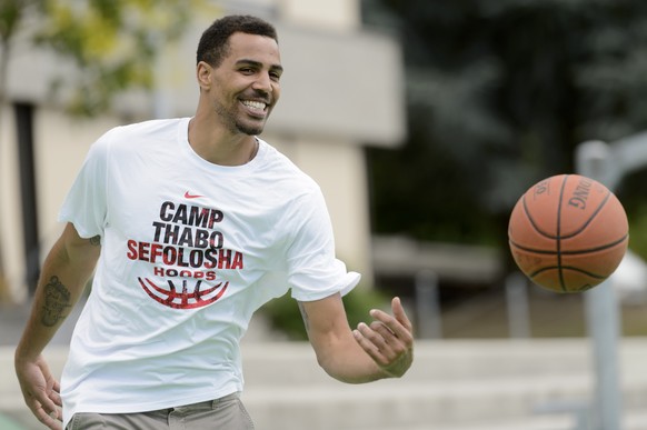
[[432, 271], [422, 270], [416, 276], [416, 316], [421, 339], [442, 338], [438, 277]]

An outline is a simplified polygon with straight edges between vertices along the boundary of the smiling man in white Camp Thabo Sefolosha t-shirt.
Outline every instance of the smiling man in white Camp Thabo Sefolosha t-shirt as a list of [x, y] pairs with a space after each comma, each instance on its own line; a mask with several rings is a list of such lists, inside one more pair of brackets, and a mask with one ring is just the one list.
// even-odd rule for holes
[[[359, 274], [335, 258], [321, 192], [256, 138], [281, 73], [273, 27], [222, 18], [198, 46], [195, 117], [118, 127], [92, 146], [16, 351], [24, 400], [50, 429], [252, 429], [239, 341], [288, 288], [334, 378], [410, 367], [397, 298], [392, 316], [372, 310], [370, 324], [349, 328], [341, 294]], [[41, 352], [94, 269], [59, 394]]]

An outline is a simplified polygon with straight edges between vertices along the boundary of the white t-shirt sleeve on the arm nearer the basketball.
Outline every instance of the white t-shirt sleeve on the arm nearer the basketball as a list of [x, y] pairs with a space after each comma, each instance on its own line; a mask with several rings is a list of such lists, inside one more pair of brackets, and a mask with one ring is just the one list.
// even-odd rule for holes
[[292, 297], [312, 301], [352, 290], [360, 274], [347, 271], [335, 256], [332, 224], [320, 190], [299, 199], [291, 213], [297, 226], [287, 258]]

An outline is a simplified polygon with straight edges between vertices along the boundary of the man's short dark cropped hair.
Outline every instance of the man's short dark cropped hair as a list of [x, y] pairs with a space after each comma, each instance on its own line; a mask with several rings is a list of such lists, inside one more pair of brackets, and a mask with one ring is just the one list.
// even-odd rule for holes
[[260, 18], [249, 14], [232, 14], [213, 21], [205, 30], [198, 43], [197, 61], [205, 61], [212, 67], [218, 67], [229, 53], [229, 38], [236, 32], [258, 34], [272, 38], [279, 42], [277, 30], [272, 24]]

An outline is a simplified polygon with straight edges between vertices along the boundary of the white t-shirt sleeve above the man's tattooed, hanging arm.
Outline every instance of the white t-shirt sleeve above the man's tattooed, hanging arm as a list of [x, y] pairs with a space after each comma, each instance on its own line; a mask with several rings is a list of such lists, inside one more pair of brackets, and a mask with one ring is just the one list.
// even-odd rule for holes
[[103, 236], [108, 218], [107, 151], [108, 133], [96, 141], [59, 211], [60, 222], [74, 224], [79, 236]]

